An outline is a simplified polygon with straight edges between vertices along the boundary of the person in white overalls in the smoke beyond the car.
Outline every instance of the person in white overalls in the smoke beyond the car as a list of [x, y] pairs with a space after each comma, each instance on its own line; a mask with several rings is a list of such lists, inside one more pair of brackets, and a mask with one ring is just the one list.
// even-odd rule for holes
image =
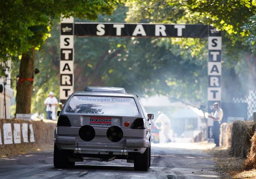
[[[160, 129], [165, 137], [165, 142], [171, 141], [169, 133], [171, 130], [171, 121], [163, 112], [158, 111], [158, 118], [154, 122], [156, 128]], [[159, 126], [160, 125], [160, 126]], [[160, 133], [160, 132], [159, 132]], [[160, 138], [160, 135], [159, 135]], [[161, 139], [159, 140], [161, 142]]]

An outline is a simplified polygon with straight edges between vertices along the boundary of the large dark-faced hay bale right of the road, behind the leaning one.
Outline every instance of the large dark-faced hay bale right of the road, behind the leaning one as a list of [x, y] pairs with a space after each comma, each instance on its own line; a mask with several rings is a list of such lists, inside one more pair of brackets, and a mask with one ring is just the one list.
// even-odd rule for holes
[[246, 157], [251, 147], [251, 137], [255, 131], [252, 121], [235, 121], [231, 126], [229, 154], [235, 157]]

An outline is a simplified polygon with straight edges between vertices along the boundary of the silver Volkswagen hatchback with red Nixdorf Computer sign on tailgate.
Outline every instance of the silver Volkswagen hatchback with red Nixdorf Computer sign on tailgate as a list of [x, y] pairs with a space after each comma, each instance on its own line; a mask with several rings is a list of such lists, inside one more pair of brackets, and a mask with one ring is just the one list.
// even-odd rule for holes
[[123, 88], [86, 87], [67, 99], [55, 130], [54, 166], [83, 160], [126, 159], [135, 170], [151, 165], [151, 122], [139, 97]]

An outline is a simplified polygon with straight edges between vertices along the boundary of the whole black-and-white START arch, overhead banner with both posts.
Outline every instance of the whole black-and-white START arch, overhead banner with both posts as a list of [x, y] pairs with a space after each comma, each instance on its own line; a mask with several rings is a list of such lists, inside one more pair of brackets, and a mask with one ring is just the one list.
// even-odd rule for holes
[[[204, 24], [127, 24], [74, 23], [74, 18], [61, 19], [60, 33], [60, 101], [65, 103], [73, 92], [74, 36], [113, 37], [175, 37], [208, 38], [208, 111], [213, 103], [221, 102], [221, 32]], [[220, 104], [221, 105], [221, 104]]]

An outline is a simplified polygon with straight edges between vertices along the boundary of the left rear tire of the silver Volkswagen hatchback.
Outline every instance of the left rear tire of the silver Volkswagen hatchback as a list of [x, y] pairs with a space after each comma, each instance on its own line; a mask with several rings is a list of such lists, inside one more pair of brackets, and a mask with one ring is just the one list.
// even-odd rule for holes
[[53, 165], [55, 168], [69, 167], [69, 153], [59, 148], [54, 144]]

